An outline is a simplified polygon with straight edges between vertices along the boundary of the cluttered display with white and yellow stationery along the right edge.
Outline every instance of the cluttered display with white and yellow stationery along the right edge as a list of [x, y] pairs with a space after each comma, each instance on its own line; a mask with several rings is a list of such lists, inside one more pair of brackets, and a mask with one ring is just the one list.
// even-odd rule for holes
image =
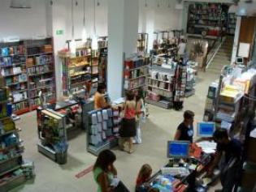
[[219, 82], [210, 84], [203, 120], [215, 122], [216, 128], [227, 129], [231, 137], [242, 139], [255, 110], [255, 84], [256, 70], [230, 66]]

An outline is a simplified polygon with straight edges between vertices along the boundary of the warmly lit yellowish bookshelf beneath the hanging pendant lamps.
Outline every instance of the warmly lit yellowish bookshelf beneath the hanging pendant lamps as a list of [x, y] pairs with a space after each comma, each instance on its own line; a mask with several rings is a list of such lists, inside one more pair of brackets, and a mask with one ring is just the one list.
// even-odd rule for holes
[[89, 47], [76, 49], [76, 55], [70, 52], [59, 52], [62, 62], [63, 96], [76, 94], [84, 89], [85, 83], [91, 80], [92, 53]]

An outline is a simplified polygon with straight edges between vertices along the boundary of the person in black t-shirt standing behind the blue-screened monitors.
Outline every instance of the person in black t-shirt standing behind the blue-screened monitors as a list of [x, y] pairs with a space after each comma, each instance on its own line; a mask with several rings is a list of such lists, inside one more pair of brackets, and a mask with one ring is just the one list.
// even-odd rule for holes
[[184, 120], [176, 130], [175, 140], [189, 141], [193, 143], [193, 111], [186, 110], [183, 114]]

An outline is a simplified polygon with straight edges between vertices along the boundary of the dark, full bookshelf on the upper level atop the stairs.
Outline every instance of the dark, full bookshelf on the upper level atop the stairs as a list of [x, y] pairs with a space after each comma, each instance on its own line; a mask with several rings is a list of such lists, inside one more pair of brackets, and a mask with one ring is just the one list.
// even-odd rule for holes
[[187, 32], [202, 36], [225, 35], [228, 5], [222, 3], [196, 2], [189, 4]]

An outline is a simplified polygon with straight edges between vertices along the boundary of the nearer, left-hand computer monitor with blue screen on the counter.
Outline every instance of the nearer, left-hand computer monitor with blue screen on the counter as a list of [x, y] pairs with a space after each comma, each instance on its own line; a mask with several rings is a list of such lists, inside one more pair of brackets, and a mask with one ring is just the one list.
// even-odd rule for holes
[[189, 141], [168, 141], [167, 157], [168, 158], [188, 158], [189, 157]]

